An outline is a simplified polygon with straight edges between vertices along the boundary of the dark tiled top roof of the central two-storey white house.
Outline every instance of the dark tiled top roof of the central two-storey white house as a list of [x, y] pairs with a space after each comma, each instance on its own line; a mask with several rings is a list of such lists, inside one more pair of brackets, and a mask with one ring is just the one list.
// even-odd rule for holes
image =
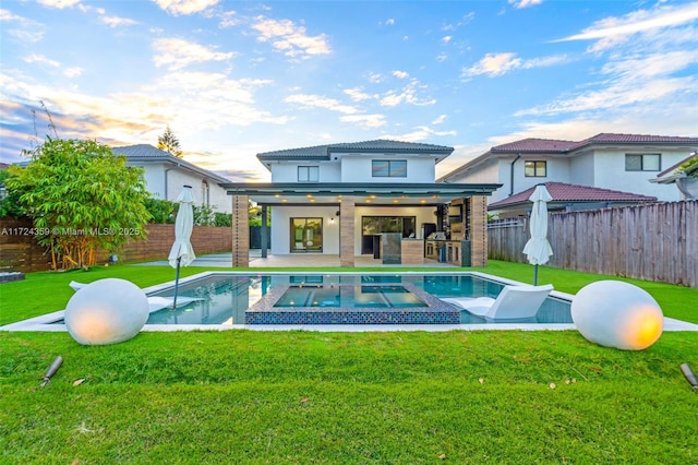
[[315, 145], [312, 147], [288, 148], [282, 151], [258, 153], [258, 159], [327, 159], [333, 152], [399, 152], [432, 153], [449, 155], [454, 147], [444, 145], [421, 144], [414, 142], [388, 141], [376, 139], [364, 142], [346, 142], [338, 144]]

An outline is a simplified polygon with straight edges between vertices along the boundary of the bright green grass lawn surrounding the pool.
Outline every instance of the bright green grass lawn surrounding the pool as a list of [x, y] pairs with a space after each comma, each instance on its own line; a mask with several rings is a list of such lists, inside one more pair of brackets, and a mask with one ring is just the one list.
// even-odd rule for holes
[[[531, 277], [504, 262], [483, 271]], [[31, 274], [0, 286], [2, 324], [63, 308], [72, 279], [107, 276], [145, 287], [172, 270]], [[539, 276], [573, 294], [600, 278]], [[698, 289], [631, 282], [698, 322]], [[642, 351], [575, 331], [142, 333], [95, 347], [0, 333], [0, 463], [698, 463], [698, 392], [678, 369], [698, 371], [698, 333]]]

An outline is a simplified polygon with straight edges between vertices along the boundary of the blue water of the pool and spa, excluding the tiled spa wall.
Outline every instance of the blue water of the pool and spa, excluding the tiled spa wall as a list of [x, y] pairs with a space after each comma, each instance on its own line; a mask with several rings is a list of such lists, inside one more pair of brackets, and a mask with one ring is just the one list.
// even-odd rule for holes
[[[149, 315], [146, 324], [245, 324], [245, 311], [265, 305], [274, 295], [269, 307], [296, 307], [297, 311], [315, 311], [325, 308], [375, 308], [376, 310], [429, 310], [424, 298], [430, 297], [492, 297], [496, 298], [504, 283], [480, 276], [460, 275], [284, 275], [215, 274], [186, 284], [181, 284], [179, 295], [200, 300], [164, 309]], [[408, 291], [407, 288], [417, 288]], [[276, 290], [274, 290], [276, 288]], [[284, 291], [286, 289], [286, 291]], [[313, 290], [314, 297], [308, 293]], [[338, 289], [352, 289], [351, 298], [338, 299]], [[320, 294], [317, 294], [320, 293]], [[345, 294], [344, 291], [340, 294]], [[153, 296], [171, 297], [173, 288]], [[357, 297], [358, 296], [358, 297]], [[278, 298], [278, 300], [276, 300]], [[280, 300], [285, 298], [287, 300]], [[299, 299], [299, 301], [297, 301]], [[300, 302], [302, 300], [302, 302]], [[433, 300], [433, 299], [432, 299]], [[280, 302], [280, 303], [279, 303]], [[570, 303], [567, 300], [547, 297], [532, 323], [571, 323]], [[460, 312], [461, 324], [492, 323], [468, 311]]]

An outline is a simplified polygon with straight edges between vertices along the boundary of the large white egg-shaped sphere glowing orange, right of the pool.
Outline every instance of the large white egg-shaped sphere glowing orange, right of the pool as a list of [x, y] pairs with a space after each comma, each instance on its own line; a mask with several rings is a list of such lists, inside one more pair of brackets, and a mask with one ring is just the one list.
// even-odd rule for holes
[[582, 287], [571, 301], [571, 319], [588, 341], [623, 350], [651, 346], [664, 329], [657, 300], [621, 281], [599, 281]]

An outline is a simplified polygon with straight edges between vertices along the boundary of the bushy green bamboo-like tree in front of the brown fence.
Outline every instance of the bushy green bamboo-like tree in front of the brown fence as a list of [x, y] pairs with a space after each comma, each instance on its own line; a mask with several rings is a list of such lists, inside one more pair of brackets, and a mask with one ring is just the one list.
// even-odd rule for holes
[[53, 269], [92, 266], [97, 250], [145, 238], [142, 168], [127, 167], [125, 157], [95, 141], [47, 136], [31, 156], [26, 168], [10, 168], [7, 183], [33, 219], [32, 234], [50, 248]]

